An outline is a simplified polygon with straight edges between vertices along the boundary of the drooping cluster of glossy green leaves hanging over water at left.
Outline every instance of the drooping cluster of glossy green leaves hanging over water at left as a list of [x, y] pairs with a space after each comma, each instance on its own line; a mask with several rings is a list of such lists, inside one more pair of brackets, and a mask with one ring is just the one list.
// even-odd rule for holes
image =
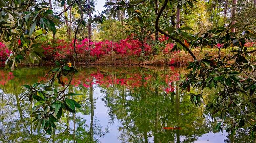
[[[37, 101], [30, 115], [31, 117], [35, 117], [32, 121], [34, 122], [34, 130], [36, 130], [36, 128], [40, 130], [42, 127], [50, 135], [52, 134], [52, 128], [56, 128], [54, 122], [61, 123], [61, 117], [64, 116], [64, 113], [67, 111], [75, 113], [75, 108], [81, 108], [79, 103], [67, 97], [82, 95], [72, 92], [65, 94], [65, 90], [70, 85], [74, 74], [78, 72], [75, 67], [71, 66], [71, 63], [63, 65], [58, 61], [55, 63], [59, 67], [48, 71], [47, 75], [50, 80], [46, 84], [39, 82], [32, 86], [22, 85], [29, 90], [22, 98], [28, 97], [31, 103], [33, 99]], [[68, 78], [69, 81], [66, 86], [64, 82], [65, 77]], [[53, 88], [55, 80], [64, 87], [63, 90], [57, 91], [57, 89]], [[53, 91], [53, 94], [51, 94], [51, 91]]]

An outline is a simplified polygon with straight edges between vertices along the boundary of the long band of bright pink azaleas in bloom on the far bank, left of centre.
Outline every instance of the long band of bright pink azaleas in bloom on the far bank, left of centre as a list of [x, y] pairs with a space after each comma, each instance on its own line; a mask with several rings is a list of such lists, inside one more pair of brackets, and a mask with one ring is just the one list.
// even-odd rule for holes
[[[47, 60], [71, 59], [74, 52], [74, 40], [65, 41], [60, 39], [52, 39], [47, 43], [42, 43], [42, 48], [45, 50], [44, 55]], [[112, 42], [109, 40], [100, 42], [90, 42], [87, 38], [82, 41], [76, 40], [76, 53], [78, 60], [86, 59], [88, 57], [101, 57], [106, 54], [115, 52], [116, 54], [124, 54], [127, 56], [139, 57], [142, 53], [150, 55], [152, 53], [151, 47], [134, 39], [133, 35], [119, 42]]]

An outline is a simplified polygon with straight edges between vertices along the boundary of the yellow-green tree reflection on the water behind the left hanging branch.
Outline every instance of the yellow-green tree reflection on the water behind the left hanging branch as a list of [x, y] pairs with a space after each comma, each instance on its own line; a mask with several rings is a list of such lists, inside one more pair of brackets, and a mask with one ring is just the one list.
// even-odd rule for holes
[[[32, 104], [28, 100], [20, 100], [23, 95], [23, 89], [17, 85], [24, 84], [24, 76], [21, 74], [19, 79], [18, 73], [15, 72], [15, 80], [8, 81], [0, 87], [0, 105], [1, 105], [1, 120], [0, 120], [0, 142], [98, 142], [101, 135], [104, 135], [107, 130], [102, 130], [100, 121], [93, 119], [94, 104], [93, 96], [90, 94], [90, 103], [87, 104], [89, 91], [85, 87], [70, 86], [69, 92], [84, 93], [82, 96], [72, 97], [78, 101], [82, 109], [77, 110], [78, 114], [68, 113], [61, 118], [62, 123], [56, 123], [57, 129], [54, 129], [52, 135], [48, 135], [43, 130], [35, 131], [31, 114]], [[40, 74], [41, 73], [41, 74]], [[43, 77], [44, 72], [37, 72], [36, 76]], [[29, 81], [26, 77], [26, 81]], [[37, 82], [37, 81], [32, 81]], [[30, 82], [29, 82], [30, 83]], [[55, 88], [62, 88], [54, 86]], [[92, 90], [90, 90], [92, 91]], [[92, 92], [90, 92], [92, 93]], [[91, 100], [92, 99], [92, 100]], [[82, 115], [91, 115], [90, 126], [86, 125], [86, 119]], [[89, 140], [88, 140], [89, 139]]]

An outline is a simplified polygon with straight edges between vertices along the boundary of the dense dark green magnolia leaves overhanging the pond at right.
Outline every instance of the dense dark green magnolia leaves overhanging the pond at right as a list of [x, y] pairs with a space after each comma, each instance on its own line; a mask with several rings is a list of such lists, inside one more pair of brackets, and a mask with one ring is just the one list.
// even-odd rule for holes
[[[238, 127], [244, 126], [245, 123], [250, 124], [250, 129], [254, 132], [253, 125], [249, 121], [253, 113], [246, 111], [246, 102], [238, 95], [243, 93], [254, 103], [255, 98], [253, 95], [255, 96], [256, 86], [254, 86], [253, 71], [256, 65], [255, 61], [251, 60], [251, 53], [254, 51], [248, 51], [244, 47], [245, 38], [251, 39], [255, 34], [248, 30], [241, 33], [229, 32], [232, 26], [230, 25], [229, 29], [218, 27], [217, 29], [209, 30], [204, 33], [203, 37], [192, 40], [200, 41], [199, 46], [212, 45], [218, 41], [223, 45], [218, 48], [218, 57], [206, 54], [204, 59], [191, 62], [187, 67], [191, 71], [180, 86], [184, 90], [188, 90], [188, 87], [193, 87], [202, 90], [202, 92], [205, 87], [218, 88], [219, 92], [216, 93], [213, 101], [209, 102], [206, 107], [213, 115], [218, 113], [217, 116], [219, 116], [221, 122], [217, 124], [216, 129], [222, 131], [224, 124], [232, 121], [232, 125], [226, 127], [225, 130], [234, 135]], [[220, 51], [230, 45], [236, 46], [235, 50], [231, 51], [233, 56], [220, 55]], [[191, 96], [191, 102], [196, 106], [200, 106], [202, 100], [199, 100], [198, 95], [189, 95]], [[236, 126], [237, 124], [238, 126]]]

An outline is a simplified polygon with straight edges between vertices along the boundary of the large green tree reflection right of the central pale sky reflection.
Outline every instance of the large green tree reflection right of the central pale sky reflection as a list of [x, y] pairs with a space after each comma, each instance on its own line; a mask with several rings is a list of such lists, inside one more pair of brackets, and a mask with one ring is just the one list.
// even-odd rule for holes
[[[180, 94], [178, 83], [173, 83], [176, 91], [171, 94], [159, 91], [159, 76], [154, 74], [150, 82], [142, 79], [141, 86], [129, 89], [126, 94], [122, 94], [121, 88], [115, 89], [121, 94], [114, 97], [107, 92], [105, 102], [109, 115], [115, 116], [110, 118], [121, 122], [119, 139], [145, 143], [152, 140], [155, 143], [193, 142], [211, 131], [212, 123], [203, 114], [204, 109], [191, 106], [189, 97]], [[180, 127], [181, 130], [164, 130], [163, 127]]]

